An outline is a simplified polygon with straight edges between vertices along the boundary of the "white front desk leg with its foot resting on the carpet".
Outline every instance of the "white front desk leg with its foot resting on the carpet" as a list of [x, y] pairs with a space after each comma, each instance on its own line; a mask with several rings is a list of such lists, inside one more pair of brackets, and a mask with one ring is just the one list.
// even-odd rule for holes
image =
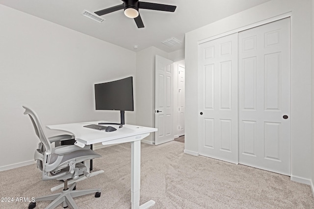
[[150, 200], [139, 206], [139, 191], [141, 187], [141, 141], [131, 142], [131, 205], [132, 209], [148, 209], [155, 205]]

